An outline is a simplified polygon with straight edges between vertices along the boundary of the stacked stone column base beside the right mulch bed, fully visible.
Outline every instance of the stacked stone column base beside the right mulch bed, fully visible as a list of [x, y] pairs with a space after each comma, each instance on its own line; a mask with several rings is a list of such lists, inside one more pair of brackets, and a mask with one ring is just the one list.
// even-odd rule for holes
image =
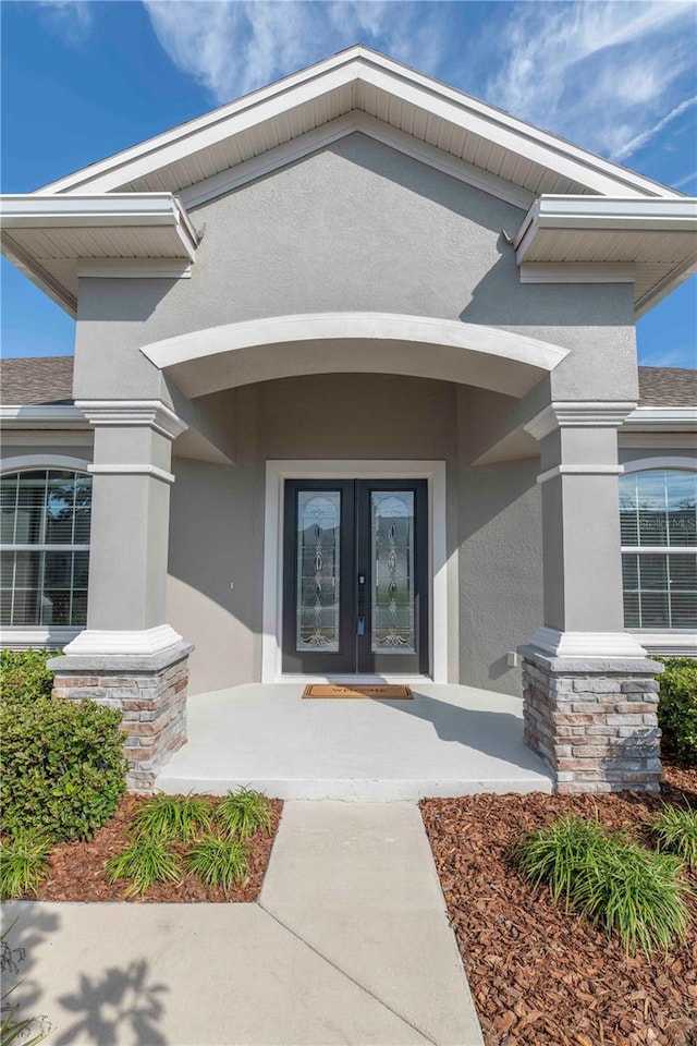
[[659, 790], [660, 662], [521, 654], [525, 743], [552, 768], [558, 792]]

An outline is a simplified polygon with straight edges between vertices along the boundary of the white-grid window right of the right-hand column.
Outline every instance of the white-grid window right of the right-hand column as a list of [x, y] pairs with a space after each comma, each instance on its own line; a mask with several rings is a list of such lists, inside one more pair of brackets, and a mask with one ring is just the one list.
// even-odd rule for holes
[[624, 624], [697, 627], [697, 472], [632, 472], [620, 478]]

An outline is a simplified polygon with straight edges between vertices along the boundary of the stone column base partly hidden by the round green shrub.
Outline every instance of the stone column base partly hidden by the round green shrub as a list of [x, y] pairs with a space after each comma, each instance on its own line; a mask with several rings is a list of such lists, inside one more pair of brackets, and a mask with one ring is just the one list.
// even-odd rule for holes
[[193, 648], [179, 643], [158, 654], [75, 654], [48, 662], [56, 672], [54, 697], [87, 697], [123, 713], [132, 792], [152, 792], [161, 768], [186, 742], [188, 655]]

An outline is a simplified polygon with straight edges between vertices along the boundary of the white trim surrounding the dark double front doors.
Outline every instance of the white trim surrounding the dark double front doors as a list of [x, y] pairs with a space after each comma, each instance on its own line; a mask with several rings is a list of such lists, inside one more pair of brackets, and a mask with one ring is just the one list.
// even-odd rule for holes
[[[261, 637], [261, 682], [318, 682], [328, 677], [283, 674], [281, 628], [283, 597], [283, 481], [284, 479], [426, 479], [428, 482], [428, 567], [431, 606], [431, 676], [436, 683], [448, 682], [448, 544], [445, 539], [444, 461], [355, 461], [286, 460], [266, 463], [264, 518], [264, 634]], [[346, 677], [342, 677], [346, 678]], [[358, 677], [351, 677], [357, 681]], [[401, 682], [420, 677], [360, 677]], [[334, 681], [333, 678], [331, 681]]]

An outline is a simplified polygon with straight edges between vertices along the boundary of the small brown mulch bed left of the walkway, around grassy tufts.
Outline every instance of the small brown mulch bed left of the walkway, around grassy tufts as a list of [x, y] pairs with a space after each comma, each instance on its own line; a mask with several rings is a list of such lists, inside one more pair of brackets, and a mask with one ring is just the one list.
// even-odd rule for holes
[[[90, 842], [59, 842], [51, 852], [51, 875], [41, 884], [40, 901], [156, 901], [162, 903], [191, 904], [197, 901], [227, 903], [230, 901], [256, 901], [271, 855], [271, 847], [278, 831], [283, 803], [280, 799], [271, 804], [271, 832], [257, 830], [245, 847], [249, 854], [249, 872], [240, 886], [209, 889], [195, 876], [186, 875], [181, 883], [156, 883], [140, 897], [126, 897], [127, 884], [117, 881], [110, 886], [102, 876], [105, 861], [129, 846], [126, 835], [131, 818], [147, 796], [126, 795], [109, 824], [101, 828]], [[220, 802], [211, 796], [212, 802]], [[174, 847], [180, 853], [184, 848]], [[32, 897], [32, 900], [34, 898]]]

